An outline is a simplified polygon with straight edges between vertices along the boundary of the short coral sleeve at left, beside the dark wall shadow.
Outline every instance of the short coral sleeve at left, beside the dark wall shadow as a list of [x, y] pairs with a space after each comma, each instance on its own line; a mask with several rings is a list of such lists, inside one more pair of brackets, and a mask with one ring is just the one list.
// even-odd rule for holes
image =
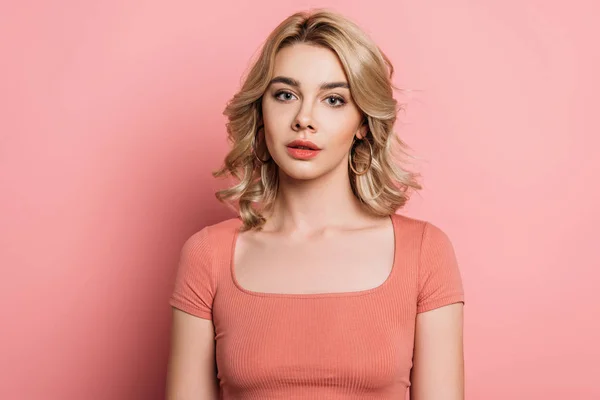
[[169, 304], [204, 319], [212, 318], [215, 277], [208, 228], [184, 243]]

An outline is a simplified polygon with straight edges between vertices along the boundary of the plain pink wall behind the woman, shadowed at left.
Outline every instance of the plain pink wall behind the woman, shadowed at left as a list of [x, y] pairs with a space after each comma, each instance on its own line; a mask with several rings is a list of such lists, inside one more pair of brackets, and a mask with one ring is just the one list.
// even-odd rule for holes
[[425, 190], [402, 212], [455, 245], [467, 398], [600, 398], [597, 2], [3, 3], [0, 398], [163, 398], [179, 249], [230, 216], [221, 112], [317, 6], [414, 90]]

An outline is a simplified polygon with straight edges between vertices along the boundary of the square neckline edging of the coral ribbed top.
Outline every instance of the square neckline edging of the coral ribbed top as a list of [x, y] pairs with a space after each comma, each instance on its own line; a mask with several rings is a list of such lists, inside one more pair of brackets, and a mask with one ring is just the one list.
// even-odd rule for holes
[[393, 261], [392, 261], [392, 268], [391, 268], [388, 276], [386, 277], [386, 279], [382, 283], [380, 283], [379, 285], [377, 285], [375, 287], [372, 287], [370, 289], [363, 289], [363, 290], [353, 290], [353, 291], [344, 291], [344, 292], [322, 292], [322, 293], [276, 293], [276, 292], [258, 292], [258, 291], [246, 289], [239, 283], [239, 281], [237, 280], [237, 277], [235, 275], [235, 249], [236, 249], [238, 237], [240, 234], [241, 226], [238, 226], [235, 228], [233, 238], [232, 238], [230, 256], [229, 256], [229, 276], [231, 278], [233, 286], [235, 286], [240, 292], [245, 293], [250, 296], [271, 297], [271, 298], [297, 298], [297, 299], [357, 297], [357, 296], [365, 296], [368, 294], [373, 294], [373, 293], [382, 291], [389, 285], [389, 282], [393, 279], [393, 277], [395, 275], [395, 271], [398, 266], [399, 255], [398, 255], [397, 229], [398, 229], [399, 222], [398, 222], [397, 218], [395, 218], [395, 215], [396, 214], [389, 215], [389, 218], [392, 222], [392, 232], [394, 235], [394, 256], [393, 256]]

